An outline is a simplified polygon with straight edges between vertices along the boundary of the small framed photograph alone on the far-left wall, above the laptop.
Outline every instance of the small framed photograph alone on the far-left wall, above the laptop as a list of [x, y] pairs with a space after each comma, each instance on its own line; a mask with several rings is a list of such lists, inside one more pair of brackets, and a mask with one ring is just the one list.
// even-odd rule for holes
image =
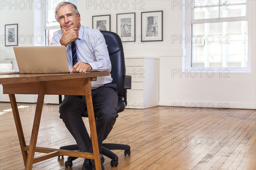
[[18, 45], [18, 24], [5, 25], [5, 46]]

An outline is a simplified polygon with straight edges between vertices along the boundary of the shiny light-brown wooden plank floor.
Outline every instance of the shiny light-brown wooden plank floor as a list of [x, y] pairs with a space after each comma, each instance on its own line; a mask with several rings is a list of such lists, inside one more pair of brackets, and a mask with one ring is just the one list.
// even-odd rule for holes
[[[0, 170], [24, 170], [11, 106], [0, 106]], [[18, 106], [29, 144], [35, 104]], [[58, 105], [44, 104], [37, 146], [75, 144], [58, 116]], [[87, 118], [84, 122], [89, 129]], [[163, 106], [127, 109], [119, 114], [105, 142], [131, 146], [131, 156], [114, 151], [119, 156], [117, 167], [111, 167], [110, 159], [105, 159], [105, 170], [255, 170], [256, 111]], [[83, 159], [65, 168], [66, 159], [38, 162], [33, 170], [81, 170]]]

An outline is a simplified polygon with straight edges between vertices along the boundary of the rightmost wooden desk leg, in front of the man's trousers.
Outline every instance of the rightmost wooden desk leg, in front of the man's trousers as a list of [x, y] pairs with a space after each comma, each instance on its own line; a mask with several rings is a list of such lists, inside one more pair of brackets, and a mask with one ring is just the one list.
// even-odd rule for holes
[[98, 144], [98, 137], [97, 137], [97, 131], [96, 131], [96, 124], [95, 124], [95, 117], [94, 117], [94, 111], [93, 111], [93, 100], [91, 95], [91, 81], [90, 79], [87, 79], [85, 83], [86, 87], [86, 105], [87, 105], [87, 112], [88, 112], [88, 119], [89, 119], [89, 125], [90, 125], [90, 133], [91, 133], [91, 140], [93, 145], [93, 156], [94, 156], [94, 162], [95, 162], [95, 169], [101, 170], [101, 161], [99, 157], [99, 144]]

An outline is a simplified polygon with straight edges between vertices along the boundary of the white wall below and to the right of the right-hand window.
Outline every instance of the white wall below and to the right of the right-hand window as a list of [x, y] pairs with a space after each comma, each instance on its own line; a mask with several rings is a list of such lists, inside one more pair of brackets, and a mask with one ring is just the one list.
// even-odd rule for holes
[[[207, 73], [201, 76], [200, 72], [197, 76], [193, 73], [186, 75], [181, 73], [180, 56], [161, 57], [160, 105], [256, 108], [256, 1], [250, 3], [248, 54], [251, 57], [251, 73], [215, 73], [213, 77]], [[178, 27], [181, 29], [181, 26]]]

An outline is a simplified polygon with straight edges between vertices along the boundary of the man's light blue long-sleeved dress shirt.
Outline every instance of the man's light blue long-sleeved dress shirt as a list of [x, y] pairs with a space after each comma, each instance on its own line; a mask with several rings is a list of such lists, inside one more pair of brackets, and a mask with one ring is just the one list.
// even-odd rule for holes
[[[51, 45], [61, 45], [60, 39], [62, 34], [63, 32], [61, 29], [55, 31], [53, 33]], [[75, 41], [75, 44], [78, 61], [90, 64], [92, 67], [91, 72], [111, 71], [108, 48], [105, 39], [99, 30], [81, 26], [79, 30], [79, 39]], [[68, 68], [71, 71], [73, 68], [71, 43], [67, 45], [66, 51]], [[112, 82], [111, 75], [97, 77], [97, 81], [92, 82], [92, 89], [96, 89], [110, 82]]]

